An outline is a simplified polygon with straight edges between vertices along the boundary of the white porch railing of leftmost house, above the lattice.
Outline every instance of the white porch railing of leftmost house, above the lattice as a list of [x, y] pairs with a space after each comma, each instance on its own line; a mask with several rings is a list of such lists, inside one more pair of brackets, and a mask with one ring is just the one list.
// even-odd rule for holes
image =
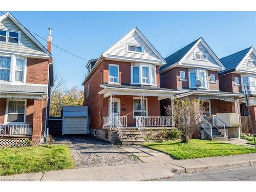
[[0, 124], [0, 137], [31, 136], [32, 123], [7, 123]]

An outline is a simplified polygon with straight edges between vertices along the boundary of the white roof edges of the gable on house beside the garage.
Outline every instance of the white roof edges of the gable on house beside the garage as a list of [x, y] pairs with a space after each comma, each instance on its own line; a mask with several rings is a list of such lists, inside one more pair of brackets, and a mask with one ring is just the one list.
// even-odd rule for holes
[[133, 32], [136, 32], [139, 37], [145, 42], [145, 44], [156, 54], [156, 56], [161, 60], [161, 65], [165, 65], [165, 60], [162, 57], [162, 55], [156, 50], [156, 48], [151, 44], [150, 41], [147, 40], [147, 38], [141, 33], [141, 31], [135, 27], [133, 28], [131, 31], [129, 31], [128, 33], [126, 33], [121, 39], [119, 39], [117, 42], [115, 42], [114, 45], [112, 45], [108, 50], [106, 50], [105, 52], [102, 53], [103, 57], [106, 57], [107, 54], [114, 49], [114, 47], [121, 42], [122, 40], [124, 40], [127, 36], [131, 35]]

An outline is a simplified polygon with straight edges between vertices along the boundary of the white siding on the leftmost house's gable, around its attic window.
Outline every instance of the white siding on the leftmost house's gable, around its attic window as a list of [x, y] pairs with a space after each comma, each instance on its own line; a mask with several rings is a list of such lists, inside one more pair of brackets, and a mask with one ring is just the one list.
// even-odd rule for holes
[[10, 18], [6, 18], [0, 23], [0, 29], [21, 32], [20, 45], [0, 42], [0, 51], [47, 56], [47, 54], [41, 51], [41, 49], [24, 32], [22, 32]]

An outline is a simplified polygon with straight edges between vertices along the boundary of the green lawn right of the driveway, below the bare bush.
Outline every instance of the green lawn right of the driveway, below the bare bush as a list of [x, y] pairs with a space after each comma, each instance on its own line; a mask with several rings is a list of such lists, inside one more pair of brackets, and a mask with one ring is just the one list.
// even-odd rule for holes
[[175, 159], [194, 159], [202, 157], [242, 155], [256, 153], [251, 147], [222, 143], [220, 141], [207, 141], [192, 139], [190, 143], [181, 140], [168, 142], [144, 143], [143, 146], [164, 152]]

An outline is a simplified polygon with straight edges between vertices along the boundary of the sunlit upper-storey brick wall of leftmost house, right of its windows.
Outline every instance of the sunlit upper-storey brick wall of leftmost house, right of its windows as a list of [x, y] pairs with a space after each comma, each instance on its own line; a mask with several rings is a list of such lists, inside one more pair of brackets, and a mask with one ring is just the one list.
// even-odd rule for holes
[[28, 58], [26, 83], [47, 84], [48, 60]]

